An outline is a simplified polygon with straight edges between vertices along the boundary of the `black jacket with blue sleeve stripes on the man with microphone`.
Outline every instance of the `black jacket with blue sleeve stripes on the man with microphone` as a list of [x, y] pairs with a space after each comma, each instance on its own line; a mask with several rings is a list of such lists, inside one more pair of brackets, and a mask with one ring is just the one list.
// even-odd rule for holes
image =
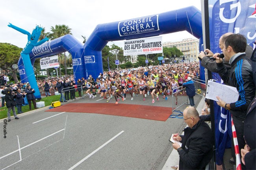
[[236, 87], [239, 92], [238, 101], [230, 103], [230, 113], [244, 120], [247, 108], [255, 96], [250, 60], [242, 53], [231, 63], [230, 71], [225, 68], [223, 62], [217, 63], [217, 69], [221, 79], [228, 82], [229, 86]]

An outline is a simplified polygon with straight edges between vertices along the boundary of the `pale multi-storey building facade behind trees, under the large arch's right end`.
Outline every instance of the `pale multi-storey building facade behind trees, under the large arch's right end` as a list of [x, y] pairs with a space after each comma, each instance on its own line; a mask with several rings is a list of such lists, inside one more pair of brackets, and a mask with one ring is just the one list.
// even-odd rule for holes
[[184, 56], [184, 62], [198, 61], [199, 54], [199, 40], [193, 38], [186, 38], [177, 42], [164, 42], [163, 47], [176, 47]]

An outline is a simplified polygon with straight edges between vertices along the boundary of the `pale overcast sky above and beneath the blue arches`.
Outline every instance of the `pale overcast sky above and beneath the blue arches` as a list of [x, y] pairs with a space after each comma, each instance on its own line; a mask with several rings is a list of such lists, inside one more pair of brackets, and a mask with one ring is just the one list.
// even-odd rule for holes
[[[32, 33], [36, 25], [50, 27], [61, 24], [69, 26], [74, 37], [83, 42], [96, 25], [155, 15], [188, 6], [201, 11], [200, 0], [5, 0], [0, 5], [0, 42], [24, 48], [27, 35], [10, 27], [8, 23]], [[175, 42], [194, 38], [187, 31], [161, 35], [163, 42]], [[123, 48], [123, 41], [109, 42]]]

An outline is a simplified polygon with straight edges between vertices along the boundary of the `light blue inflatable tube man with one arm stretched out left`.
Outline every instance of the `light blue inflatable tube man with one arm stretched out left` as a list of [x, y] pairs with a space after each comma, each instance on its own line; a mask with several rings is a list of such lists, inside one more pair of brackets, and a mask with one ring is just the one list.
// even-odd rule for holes
[[11, 27], [17, 31], [19, 31], [22, 34], [28, 35], [28, 43], [26, 46], [22, 49], [20, 56], [23, 60], [24, 69], [28, 78], [28, 82], [30, 83], [31, 87], [35, 90], [35, 98], [41, 98], [39, 88], [37, 86], [37, 81], [35, 79], [35, 73], [32, 67], [31, 59], [29, 56], [29, 53], [32, 51], [32, 49], [36, 46], [40, 46], [41, 44], [48, 41], [48, 38], [44, 38], [43, 40], [38, 41], [42, 27], [36, 26], [35, 29], [32, 31], [32, 34], [30, 34], [28, 31], [21, 29], [17, 26], [14, 26], [13, 24], [9, 23], [8, 27]]

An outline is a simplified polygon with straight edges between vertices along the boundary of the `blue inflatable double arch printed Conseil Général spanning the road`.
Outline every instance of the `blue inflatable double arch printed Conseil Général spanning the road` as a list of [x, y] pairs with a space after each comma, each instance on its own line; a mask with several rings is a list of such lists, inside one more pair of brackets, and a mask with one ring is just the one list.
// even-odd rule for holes
[[[152, 37], [178, 31], [191, 33], [200, 39], [202, 44], [202, 16], [196, 7], [98, 24], [84, 45], [72, 35], [65, 35], [33, 48], [29, 55], [33, 65], [35, 58], [49, 57], [68, 51], [72, 55], [75, 80], [81, 77], [87, 78], [90, 74], [98, 77], [98, 74], [103, 72], [102, 49], [109, 41]], [[85, 58], [90, 58], [90, 62], [85, 62]], [[24, 65], [21, 58], [18, 66], [20, 79], [22, 82], [28, 82], [27, 75], [23, 72]]]

